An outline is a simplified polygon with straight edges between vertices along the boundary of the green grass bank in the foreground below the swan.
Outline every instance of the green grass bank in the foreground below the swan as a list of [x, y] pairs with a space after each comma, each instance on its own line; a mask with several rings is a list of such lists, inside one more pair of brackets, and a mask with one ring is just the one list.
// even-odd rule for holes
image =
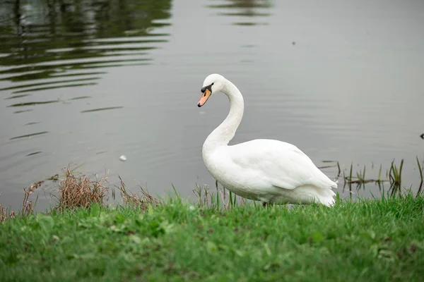
[[0, 223], [0, 281], [420, 281], [424, 198], [227, 211], [170, 200]]

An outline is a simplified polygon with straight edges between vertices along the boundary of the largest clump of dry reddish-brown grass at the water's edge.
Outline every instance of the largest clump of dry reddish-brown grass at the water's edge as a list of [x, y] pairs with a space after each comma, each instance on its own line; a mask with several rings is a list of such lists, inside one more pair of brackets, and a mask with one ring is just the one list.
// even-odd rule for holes
[[93, 204], [103, 206], [107, 198], [107, 178], [90, 180], [86, 175], [74, 176], [69, 166], [64, 169], [64, 179], [59, 182], [59, 203], [55, 209], [89, 209]]

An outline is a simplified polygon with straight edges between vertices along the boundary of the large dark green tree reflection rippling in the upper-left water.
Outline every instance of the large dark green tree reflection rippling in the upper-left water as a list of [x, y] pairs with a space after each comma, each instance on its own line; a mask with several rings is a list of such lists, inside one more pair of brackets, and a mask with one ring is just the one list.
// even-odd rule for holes
[[[61, 102], [39, 101], [35, 92], [96, 85], [98, 68], [147, 65], [149, 51], [167, 42], [152, 32], [169, 25], [170, 0], [9, 1], [0, 8], [0, 80], [13, 82], [10, 107]], [[40, 81], [40, 82], [37, 82]], [[26, 93], [26, 94], [20, 94]], [[16, 102], [25, 98], [25, 102]], [[88, 99], [90, 97], [70, 97]], [[106, 109], [119, 109], [110, 106]], [[20, 114], [31, 109], [20, 109]]]

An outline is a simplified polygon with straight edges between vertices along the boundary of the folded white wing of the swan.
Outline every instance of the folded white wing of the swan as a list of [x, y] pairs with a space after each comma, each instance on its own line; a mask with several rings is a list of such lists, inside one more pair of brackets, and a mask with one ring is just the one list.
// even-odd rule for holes
[[252, 140], [230, 146], [232, 161], [243, 169], [253, 170], [270, 185], [293, 190], [302, 185], [336, 188], [298, 147], [278, 140]]

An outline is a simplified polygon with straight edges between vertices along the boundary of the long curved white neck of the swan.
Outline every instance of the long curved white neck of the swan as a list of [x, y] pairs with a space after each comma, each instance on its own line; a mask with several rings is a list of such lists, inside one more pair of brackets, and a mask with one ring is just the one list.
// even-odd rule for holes
[[227, 95], [230, 100], [230, 113], [227, 118], [221, 123], [204, 142], [203, 151], [211, 152], [218, 147], [227, 146], [235, 135], [240, 122], [242, 121], [243, 111], [245, 111], [245, 102], [243, 101], [242, 93], [230, 81], [226, 81], [221, 90]]

